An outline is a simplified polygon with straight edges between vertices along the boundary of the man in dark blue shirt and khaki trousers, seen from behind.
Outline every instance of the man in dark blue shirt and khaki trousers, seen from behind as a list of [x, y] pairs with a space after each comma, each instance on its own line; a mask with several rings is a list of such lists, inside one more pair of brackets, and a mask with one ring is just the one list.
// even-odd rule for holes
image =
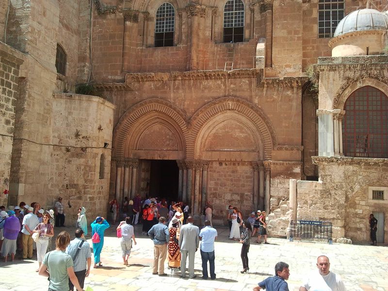
[[159, 223], [152, 226], [148, 231], [148, 236], [154, 241], [154, 265], [152, 275], [167, 276], [164, 273], [164, 261], [167, 256], [167, 242], [170, 240], [170, 233], [164, 225], [166, 219], [161, 216]]

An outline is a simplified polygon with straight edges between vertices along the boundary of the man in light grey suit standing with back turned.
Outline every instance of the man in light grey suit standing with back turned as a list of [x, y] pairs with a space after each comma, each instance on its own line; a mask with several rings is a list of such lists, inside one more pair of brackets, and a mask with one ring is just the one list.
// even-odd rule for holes
[[199, 246], [199, 227], [193, 225], [192, 216], [187, 218], [187, 224], [180, 228], [179, 247], [181, 253], [180, 272], [186, 277], [186, 258], [189, 255], [189, 278], [194, 279], [194, 256]]

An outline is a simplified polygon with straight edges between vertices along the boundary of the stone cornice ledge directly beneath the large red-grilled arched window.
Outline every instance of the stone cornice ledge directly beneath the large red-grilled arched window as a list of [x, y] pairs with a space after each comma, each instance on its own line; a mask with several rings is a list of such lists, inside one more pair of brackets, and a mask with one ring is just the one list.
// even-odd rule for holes
[[315, 165], [357, 165], [388, 167], [388, 159], [379, 158], [354, 158], [354, 157], [311, 157]]

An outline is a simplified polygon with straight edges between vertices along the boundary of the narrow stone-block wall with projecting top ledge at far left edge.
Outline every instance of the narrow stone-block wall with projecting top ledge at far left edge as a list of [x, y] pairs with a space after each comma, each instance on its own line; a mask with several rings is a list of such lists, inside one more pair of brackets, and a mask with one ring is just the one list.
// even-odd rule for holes
[[9, 186], [19, 66], [23, 58], [19, 51], [0, 42], [0, 205], [7, 204], [3, 191]]

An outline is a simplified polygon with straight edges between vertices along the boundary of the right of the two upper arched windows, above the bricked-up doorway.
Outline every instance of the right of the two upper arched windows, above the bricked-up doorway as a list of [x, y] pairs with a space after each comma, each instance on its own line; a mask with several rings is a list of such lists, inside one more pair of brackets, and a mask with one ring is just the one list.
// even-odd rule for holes
[[242, 42], [244, 39], [244, 3], [228, 0], [224, 7], [224, 43]]

